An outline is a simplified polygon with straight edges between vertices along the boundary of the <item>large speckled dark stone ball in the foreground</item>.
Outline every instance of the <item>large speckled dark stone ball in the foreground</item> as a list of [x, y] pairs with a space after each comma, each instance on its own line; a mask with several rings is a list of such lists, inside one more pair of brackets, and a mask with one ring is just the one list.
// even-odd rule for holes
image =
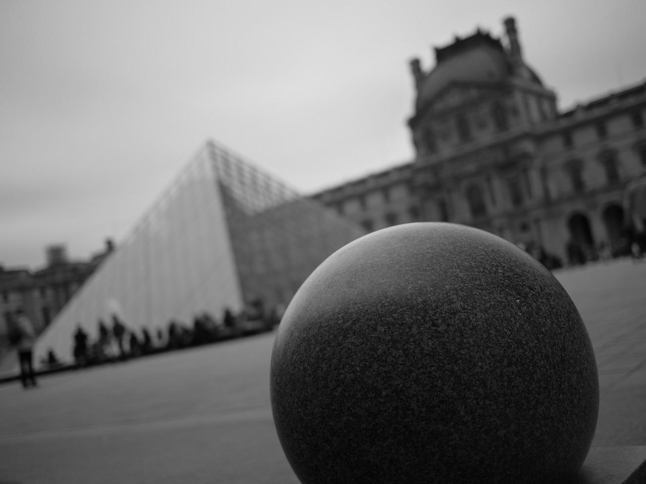
[[555, 483], [594, 436], [594, 352], [567, 292], [487, 232], [349, 243], [276, 333], [271, 407], [305, 484]]

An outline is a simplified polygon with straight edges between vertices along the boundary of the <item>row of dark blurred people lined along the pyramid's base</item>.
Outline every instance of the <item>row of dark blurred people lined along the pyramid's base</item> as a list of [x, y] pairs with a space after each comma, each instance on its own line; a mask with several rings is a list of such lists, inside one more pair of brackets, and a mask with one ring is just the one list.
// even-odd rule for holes
[[[239, 314], [225, 309], [218, 319], [203, 312], [193, 318], [192, 325], [171, 319], [165, 328], [154, 330], [129, 328], [120, 316], [112, 314], [109, 323], [98, 320], [95, 338], [90, 338], [81, 324], [77, 325], [72, 336], [74, 362], [78, 367], [100, 365], [268, 331], [280, 322], [279, 309], [265, 314], [262, 303], [256, 301]], [[53, 350], [49, 350], [42, 363], [49, 368], [61, 366]]]

